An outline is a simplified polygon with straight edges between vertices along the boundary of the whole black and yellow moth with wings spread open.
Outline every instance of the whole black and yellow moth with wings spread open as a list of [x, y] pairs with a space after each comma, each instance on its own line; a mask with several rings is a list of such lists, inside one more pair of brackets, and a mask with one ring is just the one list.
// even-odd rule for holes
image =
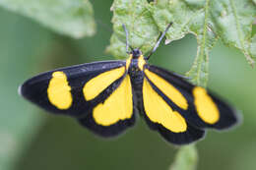
[[74, 117], [101, 137], [113, 137], [132, 127], [137, 113], [150, 129], [174, 144], [195, 142], [208, 128], [223, 130], [237, 122], [235, 111], [209, 90], [148, 64], [149, 57], [138, 48], [129, 54], [124, 61], [42, 73], [19, 91], [47, 111]]

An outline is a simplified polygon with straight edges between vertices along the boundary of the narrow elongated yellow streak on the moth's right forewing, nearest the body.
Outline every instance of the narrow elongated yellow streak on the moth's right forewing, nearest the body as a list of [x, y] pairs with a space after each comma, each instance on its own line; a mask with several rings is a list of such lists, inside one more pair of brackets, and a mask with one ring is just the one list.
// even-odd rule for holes
[[163, 92], [177, 106], [185, 110], [188, 108], [186, 98], [177, 88], [175, 88], [173, 85], [170, 85], [168, 82], [160, 78], [160, 76], [153, 72], [150, 72], [149, 70], [145, 70], [145, 74], [151, 80], [151, 82], [159, 87], [161, 92]]

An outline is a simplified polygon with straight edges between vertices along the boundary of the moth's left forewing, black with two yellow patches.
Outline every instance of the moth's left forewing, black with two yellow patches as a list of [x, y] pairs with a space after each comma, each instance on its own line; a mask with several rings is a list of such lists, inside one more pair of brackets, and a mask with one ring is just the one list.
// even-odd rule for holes
[[35, 76], [19, 91], [50, 112], [85, 117], [120, 85], [125, 72], [125, 61], [82, 64]]

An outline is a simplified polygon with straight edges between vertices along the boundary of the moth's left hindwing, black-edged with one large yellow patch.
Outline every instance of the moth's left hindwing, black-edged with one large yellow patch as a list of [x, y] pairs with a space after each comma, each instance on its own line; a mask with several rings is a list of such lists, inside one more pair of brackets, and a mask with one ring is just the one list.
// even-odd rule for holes
[[134, 125], [133, 113], [132, 85], [129, 75], [126, 75], [121, 84], [79, 122], [99, 136], [112, 137]]

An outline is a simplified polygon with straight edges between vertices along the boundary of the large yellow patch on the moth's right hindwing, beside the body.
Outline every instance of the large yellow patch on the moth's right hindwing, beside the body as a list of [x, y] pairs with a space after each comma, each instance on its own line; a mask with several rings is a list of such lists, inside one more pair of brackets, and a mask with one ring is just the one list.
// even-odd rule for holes
[[143, 102], [145, 112], [152, 122], [159, 123], [173, 133], [187, 130], [185, 119], [170, 108], [146, 79], [143, 83]]

